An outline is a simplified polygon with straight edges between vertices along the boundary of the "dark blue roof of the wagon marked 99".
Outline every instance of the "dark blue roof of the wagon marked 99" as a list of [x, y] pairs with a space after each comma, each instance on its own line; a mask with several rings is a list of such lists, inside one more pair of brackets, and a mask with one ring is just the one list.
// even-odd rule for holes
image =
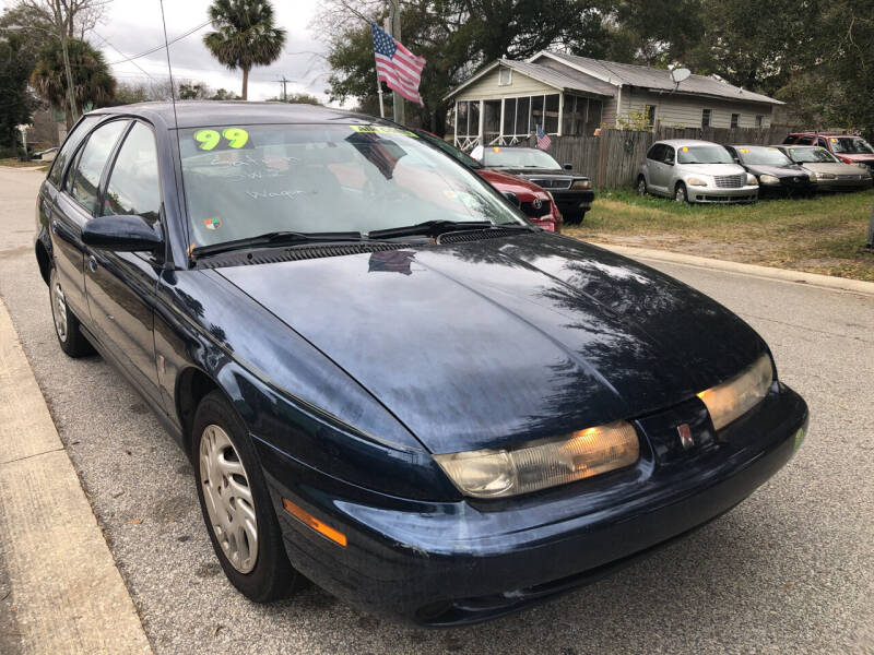
[[[175, 115], [174, 115], [175, 114]], [[173, 129], [218, 124], [334, 124], [383, 122], [378, 118], [344, 109], [290, 103], [249, 103], [247, 100], [179, 100], [173, 103], [138, 103], [95, 109], [91, 116], [134, 116], [153, 124]]]

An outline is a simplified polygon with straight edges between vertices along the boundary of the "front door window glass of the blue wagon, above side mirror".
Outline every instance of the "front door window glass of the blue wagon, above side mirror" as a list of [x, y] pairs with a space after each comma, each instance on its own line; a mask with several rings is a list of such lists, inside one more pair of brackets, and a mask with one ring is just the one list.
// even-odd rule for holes
[[152, 130], [137, 122], [118, 151], [103, 200], [103, 214], [139, 214], [150, 223], [161, 214], [157, 147]]

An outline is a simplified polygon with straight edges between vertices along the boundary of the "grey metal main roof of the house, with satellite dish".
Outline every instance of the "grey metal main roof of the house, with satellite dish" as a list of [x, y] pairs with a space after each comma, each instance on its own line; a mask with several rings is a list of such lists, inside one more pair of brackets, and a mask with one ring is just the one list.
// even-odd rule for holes
[[[674, 81], [671, 79], [671, 71], [666, 69], [631, 63], [617, 63], [615, 61], [601, 61], [587, 57], [577, 57], [576, 55], [567, 55], [565, 52], [551, 52], [548, 50], [539, 52], [529, 61], [533, 62], [542, 57], [558, 61], [571, 70], [592, 75], [613, 86], [638, 86], [657, 91], [673, 91], [675, 86]], [[729, 84], [728, 82], [721, 82], [720, 80], [706, 78], [704, 75], [690, 75], [680, 83], [676, 93], [706, 95], [747, 103], [767, 103], [769, 105], [783, 104], [766, 95], [753, 93], [752, 91], [746, 91], [740, 86]]]

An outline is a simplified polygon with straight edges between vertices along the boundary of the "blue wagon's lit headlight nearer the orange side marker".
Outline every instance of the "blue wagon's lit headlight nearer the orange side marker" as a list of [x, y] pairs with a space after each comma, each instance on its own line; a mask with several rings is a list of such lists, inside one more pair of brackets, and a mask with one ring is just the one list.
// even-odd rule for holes
[[624, 420], [508, 449], [434, 455], [464, 496], [504, 498], [565, 485], [629, 466], [640, 456]]

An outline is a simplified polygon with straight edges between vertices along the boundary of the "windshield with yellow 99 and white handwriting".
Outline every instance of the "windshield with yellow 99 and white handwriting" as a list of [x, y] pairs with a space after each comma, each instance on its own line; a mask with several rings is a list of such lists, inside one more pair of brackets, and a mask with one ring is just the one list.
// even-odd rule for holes
[[196, 128], [179, 131], [179, 150], [196, 247], [426, 221], [524, 224], [476, 174], [400, 128]]

